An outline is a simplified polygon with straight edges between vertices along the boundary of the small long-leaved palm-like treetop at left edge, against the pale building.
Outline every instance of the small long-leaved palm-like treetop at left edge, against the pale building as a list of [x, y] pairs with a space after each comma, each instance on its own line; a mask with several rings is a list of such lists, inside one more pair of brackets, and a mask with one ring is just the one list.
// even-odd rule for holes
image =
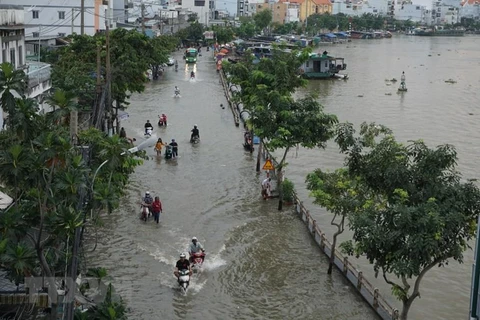
[[0, 104], [4, 112], [11, 117], [15, 113], [15, 98], [23, 98], [27, 90], [27, 76], [22, 70], [15, 70], [10, 63], [0, 64]]

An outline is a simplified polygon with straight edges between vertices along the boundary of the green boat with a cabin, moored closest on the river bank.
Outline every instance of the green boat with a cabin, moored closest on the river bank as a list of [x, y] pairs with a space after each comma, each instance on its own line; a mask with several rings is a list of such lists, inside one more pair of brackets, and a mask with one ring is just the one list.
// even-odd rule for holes
[[307, 79], [347, 79], [348, 75], [340, 74], [347, 68], [344, 58], [336, 58], [328, 55], [327, 51], [311, 53], [307, 61], [300, 67], [300, 74]]

